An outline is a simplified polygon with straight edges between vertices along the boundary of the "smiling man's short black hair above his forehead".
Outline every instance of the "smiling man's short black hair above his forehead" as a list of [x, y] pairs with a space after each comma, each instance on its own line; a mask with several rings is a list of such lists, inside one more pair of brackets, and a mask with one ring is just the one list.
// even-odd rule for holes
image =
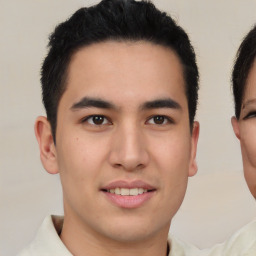
[[149, 41], [176, 52], [184, 70], [190, 126], [197, 108], [198, 68], [188, 35], [150, 1], [103, 0], [81, 8], [59, 24], [49, 38], [49, 52], [41, 70], [43, 103], [53, 138], [57, 110], [66, 89], [71, 56], [84, 46], [104, 41]]

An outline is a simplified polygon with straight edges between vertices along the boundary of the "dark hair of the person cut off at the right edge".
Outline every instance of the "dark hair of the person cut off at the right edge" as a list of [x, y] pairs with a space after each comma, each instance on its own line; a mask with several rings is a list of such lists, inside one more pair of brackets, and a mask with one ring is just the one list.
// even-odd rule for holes
[[236, 55], [232, 72], [232, 89], [234, 94], [235, 115], [240, 118], [242, 100], [249, 72], [256, 58], [256, 25], [244, 37]]

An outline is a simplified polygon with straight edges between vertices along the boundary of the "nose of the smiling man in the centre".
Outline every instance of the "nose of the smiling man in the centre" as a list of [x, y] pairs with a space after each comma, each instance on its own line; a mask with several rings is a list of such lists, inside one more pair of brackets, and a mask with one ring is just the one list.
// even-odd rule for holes
[[126, 171], [143, 169], [148, 165], [147, 144], [140, 129], [126, 125], [113, 134], [109, 161], [113, 167]]

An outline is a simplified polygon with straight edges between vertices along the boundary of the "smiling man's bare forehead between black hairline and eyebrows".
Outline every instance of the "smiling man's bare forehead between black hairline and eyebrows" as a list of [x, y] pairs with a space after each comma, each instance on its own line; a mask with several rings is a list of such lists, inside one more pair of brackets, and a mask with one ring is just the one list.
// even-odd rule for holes
[[[65, 94], [132, 99], [185, 97], [183, 67], [170, 48], [150, 42], [96, 43], [79, 49], [71, 58]], [[168, 95], [167, 95], [168, 94]], [[137, 95], [136, 95], [137, 96]]]

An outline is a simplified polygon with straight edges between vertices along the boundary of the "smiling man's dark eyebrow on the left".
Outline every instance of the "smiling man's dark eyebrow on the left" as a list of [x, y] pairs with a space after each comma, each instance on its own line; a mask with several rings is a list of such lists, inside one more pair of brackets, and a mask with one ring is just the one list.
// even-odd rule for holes
[[116, 109], [116, 107], [105, 100], [98, 98], [84, 97], [80, 101], [72, 105], [71, 110], [78, 110], [82, 108], [103, 108], [103, 109]]

